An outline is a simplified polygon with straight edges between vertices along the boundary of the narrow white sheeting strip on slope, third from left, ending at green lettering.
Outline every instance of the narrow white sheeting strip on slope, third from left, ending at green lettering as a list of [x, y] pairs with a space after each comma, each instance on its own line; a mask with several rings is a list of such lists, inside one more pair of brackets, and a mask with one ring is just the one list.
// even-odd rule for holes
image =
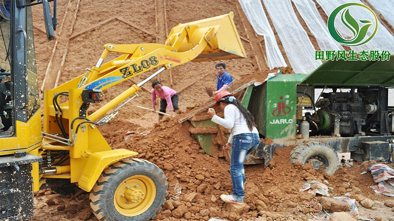
[[342, 46], [330, 37], [326, 23], [312, 0], [292, 0], [297, 11], [315, 36], [322, 51], [342, 51]]

